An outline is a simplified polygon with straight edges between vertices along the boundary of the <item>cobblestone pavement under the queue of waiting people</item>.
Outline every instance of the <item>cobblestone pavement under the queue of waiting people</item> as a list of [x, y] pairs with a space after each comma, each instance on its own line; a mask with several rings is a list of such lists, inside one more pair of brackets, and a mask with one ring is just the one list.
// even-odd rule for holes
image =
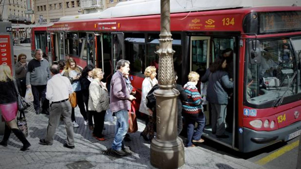
[[[33, 106], [26, 111], [29, 128], [27, 139], [32, 146], [25, 152], [20, 151], [22, 143], [12, 133], [8, 146], [0, 146], [0, 168], [71, 168], [70, 164], [77, 161], [88, 161], [93, 165], [92, 168], [153, 168], [150, 164], [150, 142], [145, 142], [140, 137], [140, 132], [145, 125], [139, 119], [138, 132], [130, 134], [132, 141], [126, 142], [126, 145], [130, 146], [134, 152], [133, 155], [112, 159], [103, 155], [101, 151], [111, 147], [115, 121], [105, 122], [106, 130], [103, 134], [106, 140], [98, 141], [92, 137], [92, 131], [88, 129], [88, 126], [84, 125], [84, 119], [76, 107], [76, 120], [79, 128], [74, 128], [75, 149], [68, 149], [63, 147], [67, 136], [62, 121], [56, 129], [53, 145], [40, 145], [38, 144], [39, 139], [45, 137], [48, 116], [36, 115]], [[0, 136], [1, 140], [2, 138], [3, 136]], [[81, 168], [85, 168], [85, 166]], [[185, 148], [185, 165], [181, 168], [254, 169], [260, 168], [260, 166], [244, 159], [232, 158], [201, 147], [195, 147]]]

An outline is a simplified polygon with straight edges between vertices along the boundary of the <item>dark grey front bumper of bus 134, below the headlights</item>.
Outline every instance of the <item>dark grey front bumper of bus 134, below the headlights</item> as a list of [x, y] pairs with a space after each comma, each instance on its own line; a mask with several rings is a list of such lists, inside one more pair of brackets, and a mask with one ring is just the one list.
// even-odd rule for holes
[[279, 141], [287, 141], [289, 134], [301, 129], [301, 121], [275, 131], [243, 129], [243, 152], [251, 152]]

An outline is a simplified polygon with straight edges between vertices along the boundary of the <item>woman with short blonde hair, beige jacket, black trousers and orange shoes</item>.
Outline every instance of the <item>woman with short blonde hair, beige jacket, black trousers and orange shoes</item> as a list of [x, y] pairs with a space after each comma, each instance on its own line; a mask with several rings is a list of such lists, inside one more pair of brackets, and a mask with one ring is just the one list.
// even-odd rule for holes
[[[104, 78], [104, 72], [100, 68], [94, 68], [92, 71], [93, 80], [89, 86], [88, 110], [90, 129], [93, 129], [93, 136], [100, 141], [104, 141], [102, 130], [104, 129], [104, 116], [109, 108], [109, 95], [106, 84], [101, 80]], [[92, 117], [95, 127], [93, 128]]]

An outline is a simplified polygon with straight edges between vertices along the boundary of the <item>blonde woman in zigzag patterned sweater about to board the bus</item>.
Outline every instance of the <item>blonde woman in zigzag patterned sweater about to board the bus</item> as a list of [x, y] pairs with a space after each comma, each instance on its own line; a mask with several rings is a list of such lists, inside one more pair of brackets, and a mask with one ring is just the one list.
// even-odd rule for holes
[[[206, 121], [202, 106], [203, 99], [195, 86], [199, 79], [200, 75], [192, 71], [188, 74], [189, 82], [184, 85], [184, 91], [188, 96], [188, 100], [183, 102], [183, 115], [187, 125], [187, 147], [195, 147], [192, 142], [204, 142], [201, 139]], [[194, 131], [195, 122], [197, 122], [196, 131]]]

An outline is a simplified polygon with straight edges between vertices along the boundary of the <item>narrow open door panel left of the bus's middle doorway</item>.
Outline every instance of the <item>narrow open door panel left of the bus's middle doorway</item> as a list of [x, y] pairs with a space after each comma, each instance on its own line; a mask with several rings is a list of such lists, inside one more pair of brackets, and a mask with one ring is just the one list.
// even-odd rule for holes
[[95, 67], [95, 41], [94, 32], [87, 32], [87, 64]]

